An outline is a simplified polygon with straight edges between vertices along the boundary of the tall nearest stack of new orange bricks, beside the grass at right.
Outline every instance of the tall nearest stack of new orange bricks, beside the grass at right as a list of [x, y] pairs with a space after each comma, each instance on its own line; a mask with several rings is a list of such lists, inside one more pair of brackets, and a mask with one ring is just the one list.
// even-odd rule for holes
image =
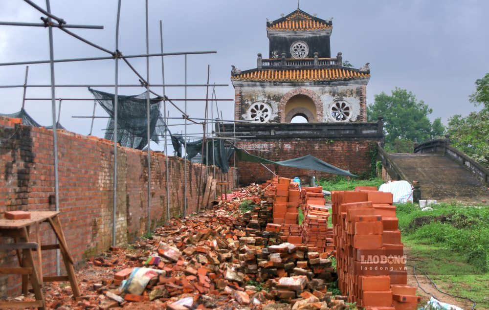
[[338, 191], [332, 202], [338, 286], [348, 301], [367, 310], [416, 309], [392, 194]]

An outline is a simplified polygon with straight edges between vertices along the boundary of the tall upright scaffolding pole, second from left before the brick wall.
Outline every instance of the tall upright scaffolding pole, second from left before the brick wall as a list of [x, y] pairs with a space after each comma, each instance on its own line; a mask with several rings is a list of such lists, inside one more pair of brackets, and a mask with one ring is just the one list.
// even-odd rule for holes
[[[119, 24], [121, 16], [121, 0], [117, 3], [117, 21], [115, 23], [115, 50], [119, 49]], [[119, 107], [119, 59], [115, 58], [115, 76], [114, 76], [114, 177], [113, 177], [113, 204], [112, 204], [112, 246], [117, 245], [117, 121]], [[96, 101], [95, 101], [96, 104]], [[95, 115], [95, 106], [93, 106], [93, 115]], [[93, 126], [93, 118], [92, 118]], [[91, 133], [91, 129], [90, 129]]]

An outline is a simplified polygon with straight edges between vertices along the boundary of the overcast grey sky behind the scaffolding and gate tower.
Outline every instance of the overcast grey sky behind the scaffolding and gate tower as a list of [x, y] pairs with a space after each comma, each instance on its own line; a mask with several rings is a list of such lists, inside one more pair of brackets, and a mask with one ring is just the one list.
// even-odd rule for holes
[[[45, 7], [45, 1], [35, 0]], [[205, 83], [207, 65], [219, 98], [233, 98], [231, 65], [256, 67], [256, 55], [268, 54], [266, 19], [280, 18], [297, 8], [296, 0], [149, 0], [150, 52], [158, 53], [159, 20], [163, 21], [165, 52], [217, 50], [214, 55], [188, 56], [188, 83]], [[453, 114], [467, 115], [476, 108], [468, 102], [474, 82], [489, 72], [489, 1], [487, 0], [301, 0], [300, 7], [317, 17], [333, 17], [332, 56], [356, 68], [370, 63], [368, 103], [382, 91], [395, 87], [412, 91], [432, 109], [431, 119], [446, 123]], [[109, 50], [115, 46], [117, 0], [51, 0], [53, 14], [71, 24], [103, 25], [104, 30], [72, 31]], [[0, 0], [1, 21], [40, 22], [42, 14], [22, 0]], [[145, 1], [123, 0], [120, 50], [123, 54], [145, 53]], [[54, 29], [55, 58], [106, 56], [104, 52]], [[0, 62], [49, 59], [48, 31], [44, 28], [0, 26]], [[184, 82], [183, 56], [165, 58], [168, 84]], [[131, 61], [146, 76], [145, 59]], [[120, 64], [120, 83], [137, 84], [138, 78]], [[56, 64], [56, 83], [113, 84], [114, 61]], [[0, 85], [23, 84], [25, 66], [0, 66]], [[150, 82], [161, 82], [161, 61], [151, 60]], [[28, 84], [49, 84], [49, 65], [29, 66]], [[100, 89], [113, 92], [113, 89]], [[158, 92], [162, 90], [156, 89]], [[121, 94], [138, 94], [142, 88], [120, 89]], [[0, 89], [0, 112], [19, 111], [22, 89]], [[170, 98], [182, 98], [183, 89], [167, 89]], [[50, 97], [50, 89], [27, 89], [27, 97]], [[56, 97], [89, 98], [87, 89], [57, 89]], [[189, 98], [205, 98], [205, 88], [188, 89]], [[180, 102], [183, 109], [183, 102]], [[29, 101], [26, 110], [42, 125], [52, 124], [51, 103]], [[203, 102], [188, 103], [188, 113], [203, 116]], [[91, 102], [64, 102], [61, 123], [76, 133], [89, 133]], [[233, 103], [220, 102], [224, 118], [233, 118]], [[106, 115], [97, 107], [97, 115]], [[170, 109], [170, 116], [179, 116]], [[174, 120], [181, 123], [181, 120]], [[94, 133], [103, 136], [105, 119], [95, 120]], [[200, 126], [188, 127], [188, 133]], [[174, 132], [182, 128], [172, 128]], [[156, 149], [160, 149], [156, 147]]]

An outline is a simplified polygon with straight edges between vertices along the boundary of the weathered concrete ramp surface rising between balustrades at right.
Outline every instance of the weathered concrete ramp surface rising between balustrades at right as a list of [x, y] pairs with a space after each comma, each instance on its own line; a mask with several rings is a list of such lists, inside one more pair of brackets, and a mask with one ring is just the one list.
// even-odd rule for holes
[[489, 191], [482, 180], [442, 154], [389, 154], [408, 181], [421, 184], [422, 199], [482, 203]]

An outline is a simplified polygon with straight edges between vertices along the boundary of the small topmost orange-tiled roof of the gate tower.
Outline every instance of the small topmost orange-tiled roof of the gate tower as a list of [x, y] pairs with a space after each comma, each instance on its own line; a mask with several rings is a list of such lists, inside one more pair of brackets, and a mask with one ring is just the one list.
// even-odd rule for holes
[[322, 20], [309, 13], [297, 9], [287, 16], [275, 21], [267, 19], [267, 30], [324, 30], [333, 28], [333, 18]]

